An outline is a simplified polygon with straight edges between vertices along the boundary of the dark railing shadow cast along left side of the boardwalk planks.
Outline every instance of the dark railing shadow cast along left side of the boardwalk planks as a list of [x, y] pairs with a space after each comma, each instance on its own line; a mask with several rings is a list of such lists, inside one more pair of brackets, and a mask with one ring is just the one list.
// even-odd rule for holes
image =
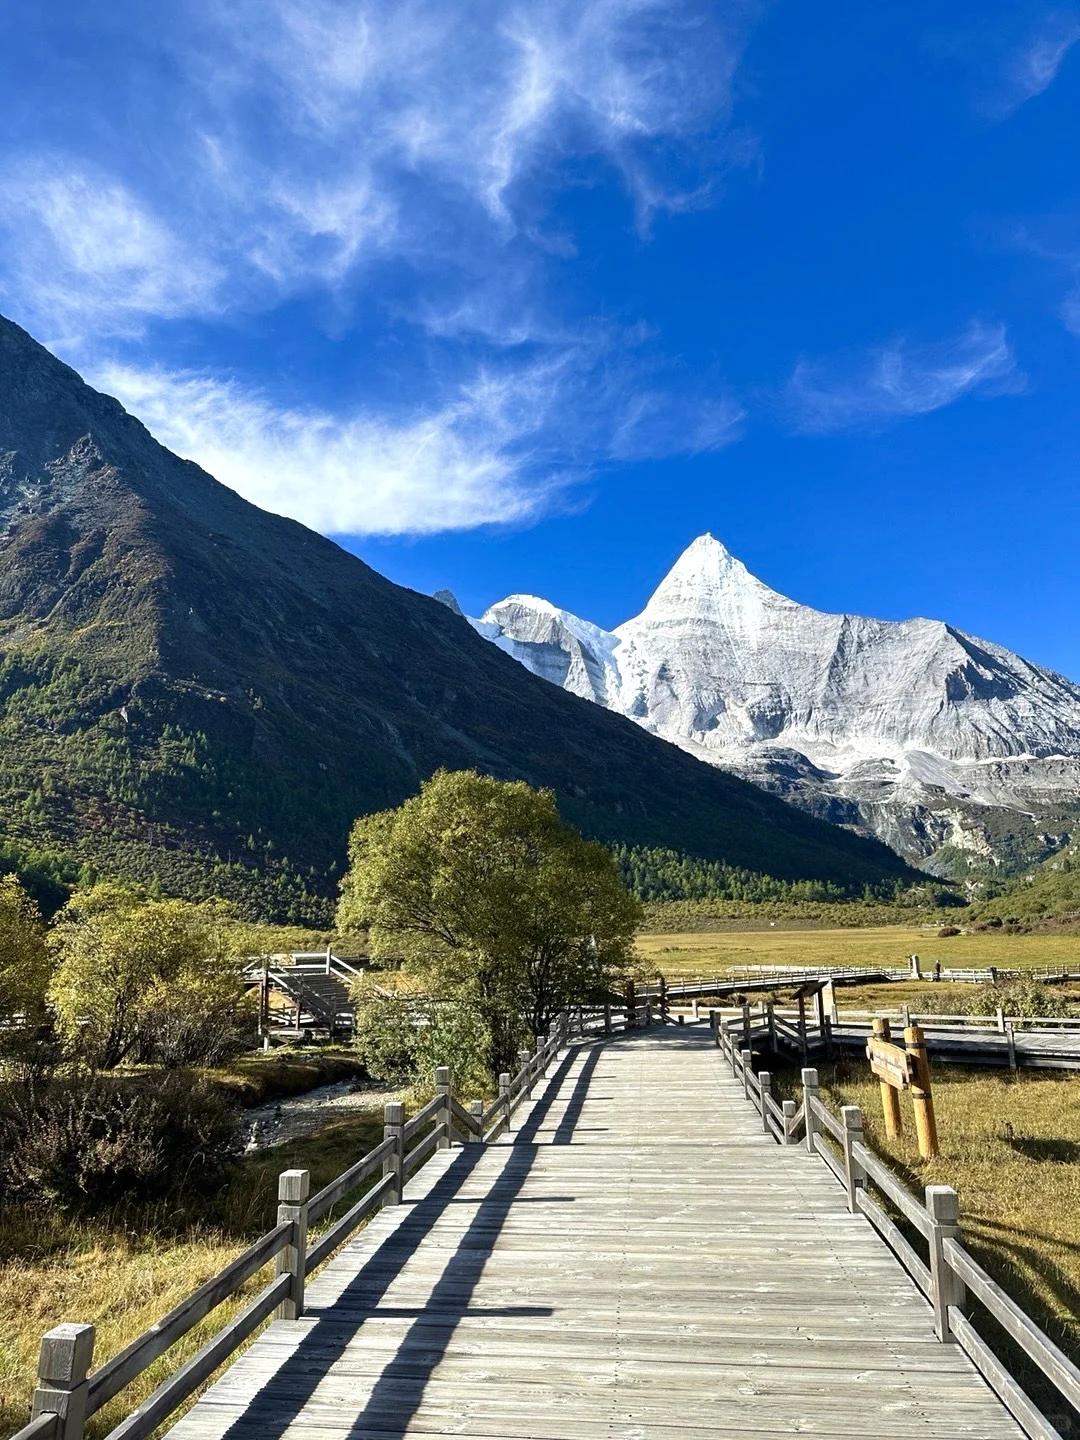
[[[469, 1302], [487, 1264], [492, 1246], [510, 1214], [520, 1200], [520, 1191], [536, 1159], [537, 1135], [557, 1103], [577, 1057], [585, 1050], [585, 1061], [576, 1076], [566, 1109], [560, 1116], [552, 1140], [553, 1145], [569, 1145], [580, 1119], [589, 1083], [600, 1057], [600, 1045], [575, 1047], [559, 1063], [556, 1073], [547, 1080], [544, 1093], [533, 1106], [526, 1123], [514, 1135], [513, 1143], [504, 1151], [507, 1159], [487, 1194], [477, 1201], [458, 1197], [458, 1191], [488, 1153], [488, 1146], [464, 1146], [448, 1169], [432, 1185], [428, 1195], [418, 1201], [406, 1201], [409, 1214], [372, 1254], [333, 1306], [318, 1315], [297, 1349], [278, 1367], [264, 1390], [253, 1397], [243, 1416], [226, 1430], [228, 1436], [258, 1436], [259, 1440], [279, 1440], [312, 1400], [315, 1390], [331, 1367], [341, 1358], [350, 1341], [363, 1322], [377, 1313], [386, 1319], [413, 1320], [409, 1332], [397, 1345], [393, 1359], [382, 1369], [364, 1407], [351, 1426], [341, 1434], [369, 1436], [373, 1430], [387, 1440], [405, 1436], [409, 1423], [418, 1411], [423, 1392], [435, 1368], [446, 1354], [458, 1322], [469, 1316], [547, 1316], [550, 1306], [510, 1305], [478, 1306]], [[530, 1197], [540, 1202], [540, 1197]], [[547, 1204], [572, 1202], [572, 1195], [546, 1197]], [[403, 1274], [419, 1251], [432, 1225], [452, 1205], [475, 1204], [477, 1212], [448, 1256], [439, 1277], [428, 1299], [413, 1308], [382, 1306], [393, 1283]], [[343, 1384], [364, 1384], [361, 1378], [346, 1380]]]

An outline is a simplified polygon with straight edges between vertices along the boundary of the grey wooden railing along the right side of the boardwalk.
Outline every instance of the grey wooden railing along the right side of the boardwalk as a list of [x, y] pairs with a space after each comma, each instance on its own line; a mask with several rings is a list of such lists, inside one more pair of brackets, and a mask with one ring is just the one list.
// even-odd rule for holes
[[[933, 1308], [937, 1339], [966, 1351], [1031, 1440], [1061, 1440], [1060, 1431], [979, 1333], [969, 1312], [992, 1316], [1076, 1411], [1080, 1411], [1080, 1369], [965, 1248], [956, 1191], [950, 1185], [927, 1185], [922, 1201], [913, 1195], [865, 1145], [861, 1109], [845, 1104], [840, 1116], [829, 1110], [821, 1099], [818, 1071], [814, 1068], [802, 1070], [802, 1102], [783, 1100], [778, 1104], [769, 1071], [755, 1074], [753, 1053], [743, 1044], [742, 1018], [726, 1021], [714, 1012], [711, 1024], [732, 1074], [742, 1081], [743, 1094], [762, 1117], [762, 1129], [780, 1145], [802, 1142], [811, 1155], [825, 1164], [842, 1185], [848, 1210], [865, 1215], [926, 1296]], [[756, 1038], [768, 1035], [760, 1021], [755, 1030]], [[874, 1200], [871, 1189], [878, 1191], [922, 1238], [926, 1259]]]

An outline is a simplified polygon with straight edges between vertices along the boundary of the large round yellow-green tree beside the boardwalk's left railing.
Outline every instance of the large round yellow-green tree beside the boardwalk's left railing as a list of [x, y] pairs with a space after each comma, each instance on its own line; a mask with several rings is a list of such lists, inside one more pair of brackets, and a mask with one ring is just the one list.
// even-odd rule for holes
[[521, 780], [439, 770], [353, 828], [338, 924], [366, 927], [373, 956], [423, 973], [432, 998], [472, 1005], [495, 1068], [523, 1030], [611, 988], [639, 922], [612, 854]]

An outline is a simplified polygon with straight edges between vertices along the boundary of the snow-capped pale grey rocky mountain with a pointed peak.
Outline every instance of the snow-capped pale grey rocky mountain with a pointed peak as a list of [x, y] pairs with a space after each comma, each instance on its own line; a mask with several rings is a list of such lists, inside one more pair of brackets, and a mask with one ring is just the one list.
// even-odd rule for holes
[[1080, 808], [1080, 687], [940, 621], [798, 605], [711, 536], [612, 632], [520, 595], [474, 625], [534, 674], [929, 868], [1038, 858]]

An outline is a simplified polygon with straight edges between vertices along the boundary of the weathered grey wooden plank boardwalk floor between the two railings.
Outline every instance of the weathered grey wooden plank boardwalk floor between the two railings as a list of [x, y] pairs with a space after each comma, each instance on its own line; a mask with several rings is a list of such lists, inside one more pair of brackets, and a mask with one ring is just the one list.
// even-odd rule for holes
[[1022, 1437], [707, 1030], [566, 1053], [436, 1155], [174, 1440]]

